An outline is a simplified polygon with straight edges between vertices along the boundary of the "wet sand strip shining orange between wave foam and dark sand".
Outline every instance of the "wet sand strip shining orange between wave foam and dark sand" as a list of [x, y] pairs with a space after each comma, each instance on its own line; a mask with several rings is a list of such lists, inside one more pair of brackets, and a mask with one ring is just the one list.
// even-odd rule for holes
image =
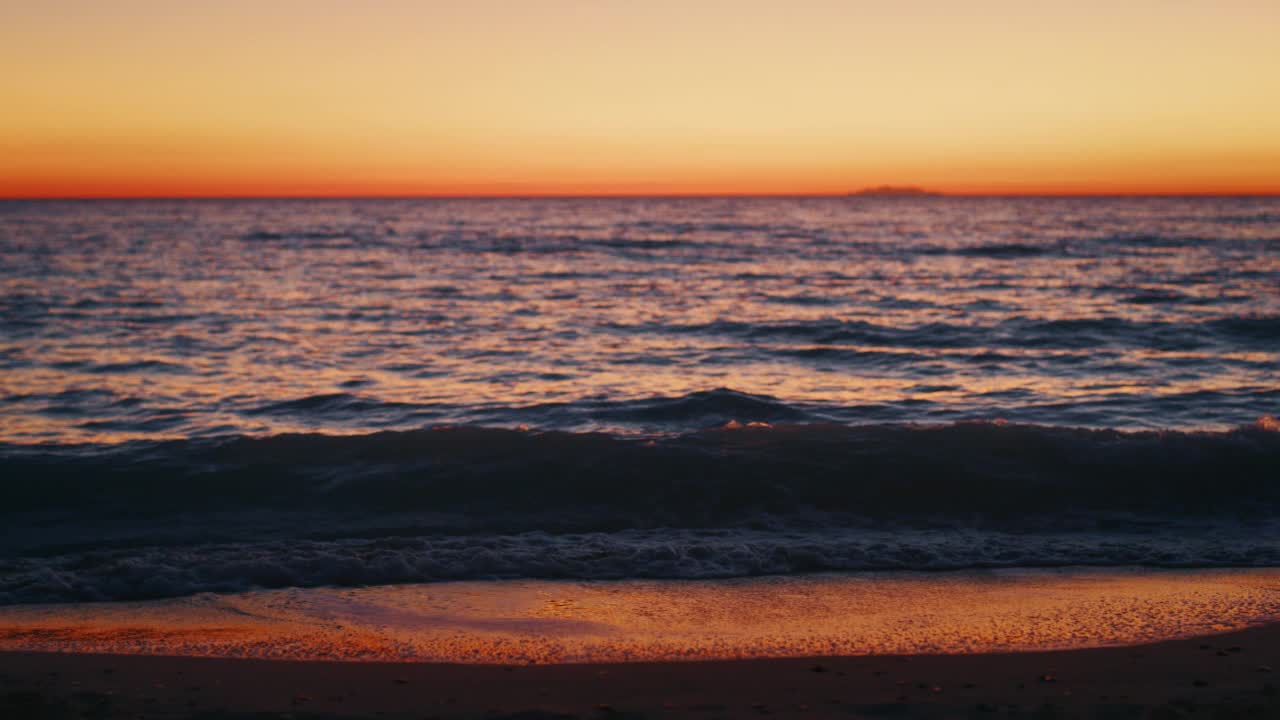
[[1280, 570], [468, 582], [0, 609], [0, 650], [590, 662], [1134, 644], [1280, 619]]

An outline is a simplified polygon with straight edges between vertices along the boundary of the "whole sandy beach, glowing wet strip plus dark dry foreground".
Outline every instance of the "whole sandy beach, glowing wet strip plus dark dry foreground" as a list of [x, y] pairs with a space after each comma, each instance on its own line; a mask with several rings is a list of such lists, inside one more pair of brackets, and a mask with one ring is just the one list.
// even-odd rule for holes
[[1280, 717], [1275, 579], [1074, 569], [19, 606], [0, 612], [0, 717]]

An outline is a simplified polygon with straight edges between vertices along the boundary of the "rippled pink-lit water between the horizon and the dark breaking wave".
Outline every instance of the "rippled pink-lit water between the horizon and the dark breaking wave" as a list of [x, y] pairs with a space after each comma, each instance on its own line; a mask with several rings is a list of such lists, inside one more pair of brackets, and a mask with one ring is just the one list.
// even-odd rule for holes
[[[6, 202], [0, 441], [433, 423], [1226, 427], [1275, 199]], [[622, 404], [602, 405], [602, 404]]]

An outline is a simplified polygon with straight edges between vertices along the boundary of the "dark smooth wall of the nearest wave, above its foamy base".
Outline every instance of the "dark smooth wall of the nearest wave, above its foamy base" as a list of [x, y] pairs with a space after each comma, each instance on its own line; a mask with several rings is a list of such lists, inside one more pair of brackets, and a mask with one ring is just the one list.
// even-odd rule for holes
[[[701, 393], [628, 413], [786, 421], [751, 396]], [[695, 405], [700, 407], [687, 407]], [[712, 413], [707, 405], [713, 406]], [[785, 406], [781, 406], [785, 407]], [[8, 446], [14, 511], [367, 507], [475, 518], [572, 515], [609, 527], [710, 527], [774, 515], [1062, 518], [1270, 514], [1274, 418], [1228, 432], [1007, 423], [780, 424], [672, 437], [443, 427], [122, 446]]]

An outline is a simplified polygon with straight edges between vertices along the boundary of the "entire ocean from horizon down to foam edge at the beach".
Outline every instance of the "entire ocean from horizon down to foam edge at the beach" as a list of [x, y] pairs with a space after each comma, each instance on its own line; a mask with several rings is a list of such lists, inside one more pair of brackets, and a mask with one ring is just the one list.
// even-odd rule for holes
[[1280, 199], [0, 202], [0, 603], [1280, 566]]

